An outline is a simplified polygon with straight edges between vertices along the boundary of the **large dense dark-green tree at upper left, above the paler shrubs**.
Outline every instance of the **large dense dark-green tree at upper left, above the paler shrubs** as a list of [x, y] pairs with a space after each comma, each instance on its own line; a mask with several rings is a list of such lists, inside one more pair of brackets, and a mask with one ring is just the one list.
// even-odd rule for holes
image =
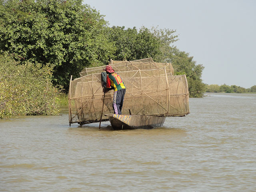
[[72, 74], [106, 63], [114, 47], [107, 22], [82, 0], [7, 0], [0, 4], [0, 49], [21, 61], [54, 64], [53, 82], [68, 88]]

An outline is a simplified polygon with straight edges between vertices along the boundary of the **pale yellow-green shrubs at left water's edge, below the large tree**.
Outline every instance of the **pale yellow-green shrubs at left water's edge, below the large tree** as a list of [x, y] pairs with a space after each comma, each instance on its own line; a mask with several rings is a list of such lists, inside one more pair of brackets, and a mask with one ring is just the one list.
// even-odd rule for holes
[[15, 115], [58, 114], [58, 90], [52, 86], [50, 66], [0, 55], [0, 118]]

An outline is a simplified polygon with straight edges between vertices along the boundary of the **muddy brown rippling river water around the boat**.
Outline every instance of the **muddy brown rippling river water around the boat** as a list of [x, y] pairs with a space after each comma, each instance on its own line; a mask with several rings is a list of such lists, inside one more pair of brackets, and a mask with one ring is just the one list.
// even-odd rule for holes
[[0, 120], [1, 192], [256, 191], [256, 94], [190, 98], [152, 130], [61, 116]]

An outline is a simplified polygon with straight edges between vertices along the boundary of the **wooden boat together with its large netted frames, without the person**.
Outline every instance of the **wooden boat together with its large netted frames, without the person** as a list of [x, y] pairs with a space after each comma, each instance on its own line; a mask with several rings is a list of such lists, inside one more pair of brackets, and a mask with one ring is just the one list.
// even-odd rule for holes
[[[162, 126], [166, 117], [190, 113], [186, 75], [173, 76], [171, 64], [155, 63], [151, 58], [111, 62], [126, 86], [123, 115], [112, 114], [112, 91], [103, 97], [102, 74], [99, 73], [103, 67], [86, 68], [84, 73], [87, 75], [70, 79], [69, 124], [84, 125], [109, 120], [116, 130], [150, 129]], [[111, 115], [101, 118], [101, 114]]]

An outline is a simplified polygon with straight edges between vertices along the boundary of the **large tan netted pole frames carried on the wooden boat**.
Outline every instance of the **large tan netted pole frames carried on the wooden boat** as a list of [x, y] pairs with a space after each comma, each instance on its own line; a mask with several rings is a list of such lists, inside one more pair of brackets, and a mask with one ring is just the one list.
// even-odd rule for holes
[[[115, 64], [113, 60], [110, 62]], [[155, 64], [149, 60], [147, 65], [152, 67]], [[135, 63], [130, 62], [130, 66], [132, 65]], [[126, 86], [122, 114], [131, 112], [136, 115], [185, 116], [190, 113], [186, 76], [172, 76], [168, 65], [163, 68], [120, 71], [118, 74]], [[113, 113], [112, 95], [113, 91], [105, 95], [103, 114]], [[101, 73], [92, 73], [70, 80], [70, 124], [99, 122], [103, 104], [102, 96]], [[102, 121], [104, 120], [108, 120], [108, 117], [102, 117]]]

